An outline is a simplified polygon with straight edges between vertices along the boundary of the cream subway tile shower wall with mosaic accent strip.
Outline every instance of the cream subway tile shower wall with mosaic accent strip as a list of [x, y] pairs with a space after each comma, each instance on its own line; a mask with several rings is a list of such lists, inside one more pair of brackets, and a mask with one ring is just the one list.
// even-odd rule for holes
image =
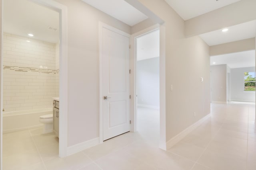
[[59, 95], [58, 49], [58, 44], [4, 33], [4, 112], [52, 107], [52, 97]]

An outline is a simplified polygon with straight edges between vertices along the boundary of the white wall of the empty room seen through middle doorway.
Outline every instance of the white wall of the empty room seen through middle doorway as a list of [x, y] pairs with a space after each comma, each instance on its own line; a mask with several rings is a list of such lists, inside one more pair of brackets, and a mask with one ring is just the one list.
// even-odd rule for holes
[[159, 108], [159, 57], [137, 61], [136, 68], [138, 105]]

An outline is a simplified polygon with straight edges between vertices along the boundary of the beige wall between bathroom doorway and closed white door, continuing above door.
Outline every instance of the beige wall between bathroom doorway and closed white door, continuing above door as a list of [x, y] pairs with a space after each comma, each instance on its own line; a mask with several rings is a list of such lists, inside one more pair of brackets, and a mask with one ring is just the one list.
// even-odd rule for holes
[[99, 137], [99, 21], [126, 33], [131, 33], [131, 27], [81, 0], [55, 1], [67, 6], [68, 10], [67, 126], [70, 147]]

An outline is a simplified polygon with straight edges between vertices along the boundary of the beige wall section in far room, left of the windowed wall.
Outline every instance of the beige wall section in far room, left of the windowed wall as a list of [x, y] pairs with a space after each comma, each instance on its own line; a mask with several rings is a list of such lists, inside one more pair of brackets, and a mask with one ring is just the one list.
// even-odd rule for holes
[[227, 102], [227, 65], [211, 66], [211, 101]]

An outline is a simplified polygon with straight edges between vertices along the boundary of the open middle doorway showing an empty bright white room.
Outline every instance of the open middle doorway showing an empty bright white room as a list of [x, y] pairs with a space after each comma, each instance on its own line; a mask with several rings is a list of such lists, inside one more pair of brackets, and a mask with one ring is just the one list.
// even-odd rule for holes
[[156, 145], [160, 136], [160, 30], [136, 37], [136, 130]]

